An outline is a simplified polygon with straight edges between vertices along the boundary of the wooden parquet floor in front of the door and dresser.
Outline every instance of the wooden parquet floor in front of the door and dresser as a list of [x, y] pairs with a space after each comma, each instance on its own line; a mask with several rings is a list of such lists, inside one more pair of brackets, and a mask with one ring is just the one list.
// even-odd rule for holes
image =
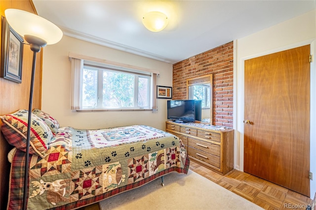
[[[223, 176], [193, 161], [190, 163], [190, 170], [266, 210], [306, 210], [307, 205], [312, 203], [309, 197], [237, 170]], [[96, 203], [80, 210], [100, 210], [100, 208]]]

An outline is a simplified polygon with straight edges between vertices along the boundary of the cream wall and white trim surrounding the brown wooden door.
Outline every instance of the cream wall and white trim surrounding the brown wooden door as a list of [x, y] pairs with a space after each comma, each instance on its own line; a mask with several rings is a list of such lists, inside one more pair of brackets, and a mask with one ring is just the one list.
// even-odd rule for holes
[[[243, 116], [244, 116], [244, 61], [262, 55], [291, 49], [316, 40], [316, 10], [290, 19], [276, 26], [267, 28], [252, 35], [235, 40], [236, 60], [234, 63], [234, 85], [236, 106], [234, 106], [234, 129], [235, 129], [235, 168], [243, 171]], [[315, 45], [313, 45], [315, 47]], [[314, 55], [314, 58], [316, 56]], [[314, 59], [315, 63], [315, 59]], [[315, 72], [315, 65], [311, 65], [311, 72]], [[316, 81], [316, 73], [311, 73], [311, 82]], [[313, 88], [316, 84], [311, 84]], [[315, 89], [315, 87], [314, 87]], [[314, 93], [314, 94], [313, 94]], [[315, 90], [311, 89], [311, 105], [315, 104]], [[311, 110], [315, 107], [311, 107]], [[316, 136], [312, 136], [316, 130], [315, 111], [311, 112], [311, 157], [315, 153]], [[314, 124], [313, 124], [314, 123]], [[311, 170], [316, 175], [316, 161], [311, 160]], [[316, 178], [311, 181], [311, 196], [316, 191]]]

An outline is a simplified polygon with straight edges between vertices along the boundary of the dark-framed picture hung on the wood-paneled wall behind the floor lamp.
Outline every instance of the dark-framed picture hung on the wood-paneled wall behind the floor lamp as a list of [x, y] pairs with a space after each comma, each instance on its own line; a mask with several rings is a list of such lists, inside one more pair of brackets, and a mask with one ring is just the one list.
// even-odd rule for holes
[[[2, 18], [1, 30], [1, 73], [11, 81], [22, 82], [23, 37], [18, 35]], [[22, 21], [22, 20], [21, 20]]]

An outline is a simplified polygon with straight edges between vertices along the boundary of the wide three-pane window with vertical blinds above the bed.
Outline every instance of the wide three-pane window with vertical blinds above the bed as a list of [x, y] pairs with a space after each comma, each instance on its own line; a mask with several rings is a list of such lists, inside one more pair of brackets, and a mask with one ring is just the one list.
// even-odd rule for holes
[[73, 110], [157, 109], [157, 73], [72, 58]]

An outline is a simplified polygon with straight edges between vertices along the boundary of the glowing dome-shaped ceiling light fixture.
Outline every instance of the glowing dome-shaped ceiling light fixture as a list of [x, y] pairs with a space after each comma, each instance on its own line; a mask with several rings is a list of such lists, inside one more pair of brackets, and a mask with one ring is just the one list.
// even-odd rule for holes
[[168, 24], [168, 17], [162, 12], [148, 12], [143, 17], [143, 24], [151, 32], [160, 32]]

